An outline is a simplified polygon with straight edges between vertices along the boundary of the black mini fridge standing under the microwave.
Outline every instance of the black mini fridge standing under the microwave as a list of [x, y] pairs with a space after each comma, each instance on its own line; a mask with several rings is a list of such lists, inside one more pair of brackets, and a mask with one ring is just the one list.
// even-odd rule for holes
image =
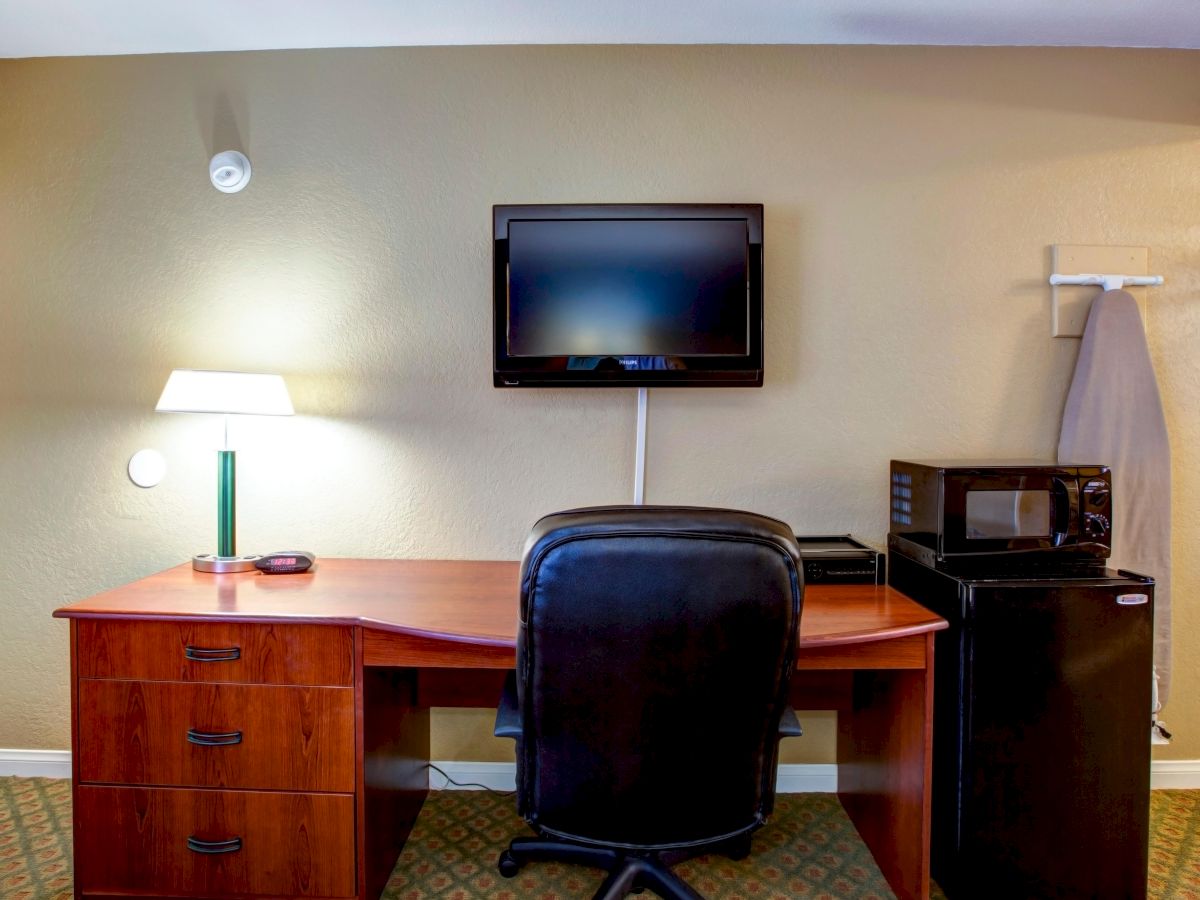
[[934, 654], [932, 876], [959, 898], [1145, 898], [1153, 582], [1130, 572], [889, 582]]

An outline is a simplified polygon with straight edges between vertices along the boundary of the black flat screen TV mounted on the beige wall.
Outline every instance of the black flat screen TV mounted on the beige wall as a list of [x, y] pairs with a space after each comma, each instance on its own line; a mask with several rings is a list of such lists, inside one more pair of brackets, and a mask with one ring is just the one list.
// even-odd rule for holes
[[496, 206], [497, 388], [762, 386], [762, 205]]

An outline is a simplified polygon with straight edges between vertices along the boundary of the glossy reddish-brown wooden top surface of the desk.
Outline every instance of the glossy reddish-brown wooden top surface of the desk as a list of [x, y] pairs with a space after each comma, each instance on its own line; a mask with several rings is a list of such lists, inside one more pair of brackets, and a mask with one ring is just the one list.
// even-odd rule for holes
[[[304, 575], [211, 575], [184, 564], [54, 614], [362, 625], [368, 631], [511, 649], [516, 646], [518, 570], [520, 564], [511, 562], [322, 559]], [[802, 649], [886, 641], [942, 628], [943, 619], [886, 586], [812, 584], [804, 592]], [[428, 653], [430, 646], [416, 650]], [[85, 668], [80, 674], [96, 672]], [[349, 684], [349, 679], [337, 683]]]

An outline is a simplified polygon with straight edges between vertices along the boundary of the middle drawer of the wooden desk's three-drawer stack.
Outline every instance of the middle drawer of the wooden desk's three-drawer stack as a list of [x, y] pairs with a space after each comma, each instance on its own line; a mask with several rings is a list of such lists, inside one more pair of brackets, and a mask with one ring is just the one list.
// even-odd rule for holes
[[354, 792], [354, 689], [79, 679], [79, 779]]

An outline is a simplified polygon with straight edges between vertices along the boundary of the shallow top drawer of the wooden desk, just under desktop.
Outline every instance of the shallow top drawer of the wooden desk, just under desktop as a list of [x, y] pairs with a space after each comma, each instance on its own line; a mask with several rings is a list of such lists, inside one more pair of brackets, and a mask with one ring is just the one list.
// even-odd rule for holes
[[354, 684], [354, 637], [335, 625], [79, 619], [80, 678]]

